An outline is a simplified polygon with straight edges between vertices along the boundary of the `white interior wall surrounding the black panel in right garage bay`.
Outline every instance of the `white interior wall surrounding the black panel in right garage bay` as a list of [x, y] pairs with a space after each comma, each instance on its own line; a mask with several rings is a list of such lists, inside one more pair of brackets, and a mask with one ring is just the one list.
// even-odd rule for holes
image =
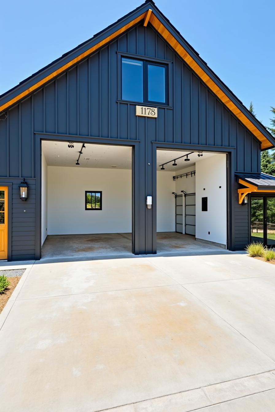
[[[207, 197], [207, 212], [202, 212]], [[196, 162], [196, 238], [226, 246], [226, 155]]]

